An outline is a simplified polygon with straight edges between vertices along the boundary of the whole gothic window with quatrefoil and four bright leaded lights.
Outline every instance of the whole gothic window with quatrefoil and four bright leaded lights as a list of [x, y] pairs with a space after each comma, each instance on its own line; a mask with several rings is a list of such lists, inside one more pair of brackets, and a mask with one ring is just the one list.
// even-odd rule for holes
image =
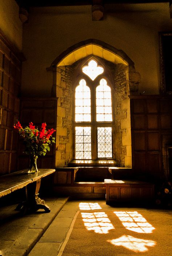
[[107, 67], [91, 58], [74, 86], [73, 134], [76, 163], [113, 163], [113, 89]]

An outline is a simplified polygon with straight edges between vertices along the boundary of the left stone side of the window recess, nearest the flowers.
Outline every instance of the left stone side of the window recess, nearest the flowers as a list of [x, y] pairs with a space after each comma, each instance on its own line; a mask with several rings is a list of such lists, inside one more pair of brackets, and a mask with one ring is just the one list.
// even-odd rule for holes
[[73, 157], [72, 144], [72, 76], [70, 66], [57, 68], [57, 137], [56, 167], [67, 166]]

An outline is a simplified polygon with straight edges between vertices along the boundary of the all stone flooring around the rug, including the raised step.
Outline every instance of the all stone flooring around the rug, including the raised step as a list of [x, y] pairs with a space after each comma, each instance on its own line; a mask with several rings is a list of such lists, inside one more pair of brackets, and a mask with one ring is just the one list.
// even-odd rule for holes
[[123, 209], [107, 205], [105, 200], [69, 200], [67, 197], [45, 200], [50, 213], [39, 210], [20, 216], [15, 211], [16, 205], [0, 208], [0, 256], [57, 256], [73, 217], [81, 209], [80, 203], [86, 203], [90, 209], [93, 203], [103, 210]]

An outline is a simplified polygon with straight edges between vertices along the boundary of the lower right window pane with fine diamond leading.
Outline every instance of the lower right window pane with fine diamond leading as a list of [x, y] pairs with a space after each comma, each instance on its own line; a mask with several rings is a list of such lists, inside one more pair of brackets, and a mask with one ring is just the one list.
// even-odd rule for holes
[[97, 128], [98, 158], [112, 157], [112, 128]]

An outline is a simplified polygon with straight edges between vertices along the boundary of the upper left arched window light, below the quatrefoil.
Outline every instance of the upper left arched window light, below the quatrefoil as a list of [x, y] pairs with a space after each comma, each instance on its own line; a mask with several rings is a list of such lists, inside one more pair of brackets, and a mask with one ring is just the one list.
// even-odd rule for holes
[[75, 121], [91, 121], [90, 88], [86, 85], [84, 79], [80, 80], [79, 85], [75, 89]]

